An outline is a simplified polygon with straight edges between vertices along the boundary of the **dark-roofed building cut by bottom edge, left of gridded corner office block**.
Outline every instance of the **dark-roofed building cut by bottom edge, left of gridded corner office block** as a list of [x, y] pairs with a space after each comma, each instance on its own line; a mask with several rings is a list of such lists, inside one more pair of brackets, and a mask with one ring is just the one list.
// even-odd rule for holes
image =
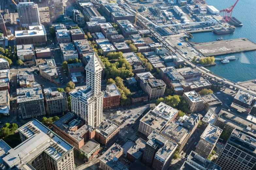
[[208, 159], [203, 158], [193, 150], [187, 156], [187, 160], [183, 163], [180, 170], [223, 170], [219, 165]]

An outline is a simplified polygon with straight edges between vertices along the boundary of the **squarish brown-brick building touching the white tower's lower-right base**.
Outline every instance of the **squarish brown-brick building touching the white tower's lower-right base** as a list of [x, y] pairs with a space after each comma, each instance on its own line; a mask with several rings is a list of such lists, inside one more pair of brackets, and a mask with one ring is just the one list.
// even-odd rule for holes
[[104, 121], [96, 130], [95, 140], [104, 146], [111, 145], [119, 137], [119, 126], [110, 121]]

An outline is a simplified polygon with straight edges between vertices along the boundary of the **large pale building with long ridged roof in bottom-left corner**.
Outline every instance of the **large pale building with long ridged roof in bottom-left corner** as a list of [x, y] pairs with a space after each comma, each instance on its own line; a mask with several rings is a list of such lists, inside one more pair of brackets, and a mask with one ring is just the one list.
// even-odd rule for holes
[[37, 119], [22, 125], [18, 132], [22, 143], [15, 148], [0, 141], [3, 153], [1, 163], [5, 164], [5, 168], [74, 169], [73, 147]]

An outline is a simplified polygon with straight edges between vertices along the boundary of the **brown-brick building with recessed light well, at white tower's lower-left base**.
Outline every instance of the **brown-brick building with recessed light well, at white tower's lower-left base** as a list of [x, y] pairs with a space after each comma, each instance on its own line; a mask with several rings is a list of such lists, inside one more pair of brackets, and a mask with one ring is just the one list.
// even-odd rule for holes
[[87, 140], [95, 138], [95, 129], [82, 120], [77, 120], [72, 113], [67, 113], [54, 122], [53, 131], [78, 151]]

